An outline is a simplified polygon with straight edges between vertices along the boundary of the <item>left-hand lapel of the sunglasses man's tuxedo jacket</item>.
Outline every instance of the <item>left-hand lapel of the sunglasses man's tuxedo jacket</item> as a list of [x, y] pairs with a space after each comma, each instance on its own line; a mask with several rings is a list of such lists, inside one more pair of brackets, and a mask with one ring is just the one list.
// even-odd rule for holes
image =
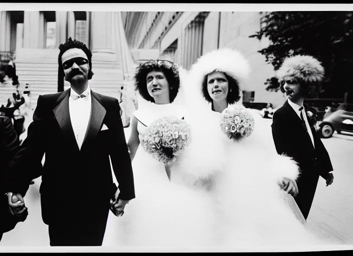
[[70, 119], [69, 97], [70, 89], [66, 90], [58, 97], [57, 102], [60, 103], [53, 109], [53, 112], [63, 133], [68, 136], [69, 141], [74, 142], [74, 147], [79, 150]]

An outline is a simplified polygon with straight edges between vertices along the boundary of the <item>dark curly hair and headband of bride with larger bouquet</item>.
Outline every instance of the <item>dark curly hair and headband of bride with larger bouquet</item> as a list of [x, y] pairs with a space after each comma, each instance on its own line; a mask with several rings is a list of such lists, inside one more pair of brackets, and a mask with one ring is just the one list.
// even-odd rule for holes
[[169, 60], [147, 60], [140, 63], [136, 67], [134, 80], [135, 90], [150, 102], [154, 102], [154, 98], [149, 95], [147, 90], [146, 76], [151, 71], [160, 71], [165, 75], [169, 85], [169, 100], [173, 102], [180, 88], [179, 67]]

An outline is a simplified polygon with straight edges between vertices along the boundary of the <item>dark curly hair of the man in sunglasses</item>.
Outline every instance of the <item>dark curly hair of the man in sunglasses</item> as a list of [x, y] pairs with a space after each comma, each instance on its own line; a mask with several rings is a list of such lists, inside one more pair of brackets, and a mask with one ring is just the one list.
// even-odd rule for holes
[[89, 71], [88, 71], [88, 79], [91, 79], [93, 76], [92, 72], [92, 52], [91, 50], [87, 47], [87, 45], [81, 41], [78, 41], [76, 39], [72, 40], [70, 37], [65, 43], [62, 43], [59, 45], [59, 56], [58, 56], [58, 63], [59, 63], [59, 69], [58, 69], [58, 91], [64, 91], [64, 68], [63, 68], [63, 63], [61, 60], [61, 57], [63, 56], [64, 52], [67, 51], [68, 49], [71, 48], [79, 48], [82, 49], [85, 54], [87, 55], [88, 58], [88, 65], [89, 65]]

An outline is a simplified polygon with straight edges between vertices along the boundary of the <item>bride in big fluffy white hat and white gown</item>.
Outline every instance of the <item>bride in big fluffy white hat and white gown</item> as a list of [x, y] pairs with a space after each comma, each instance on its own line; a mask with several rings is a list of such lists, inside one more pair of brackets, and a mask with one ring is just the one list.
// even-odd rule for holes
[[221, 113], [243, 107], [241, 89], [249, 72], [248, 61], [234, 49], [209, 52], [192, 66], [185, 85], [192, 142], [172, 167], [171, 181], [213, 198], [219, 245], [317, 244], [288, 194], [297, 191], [298, 167], [264, 138], [261, 116], [253, 113], [254, 131], [238, 142], [221, 130]]

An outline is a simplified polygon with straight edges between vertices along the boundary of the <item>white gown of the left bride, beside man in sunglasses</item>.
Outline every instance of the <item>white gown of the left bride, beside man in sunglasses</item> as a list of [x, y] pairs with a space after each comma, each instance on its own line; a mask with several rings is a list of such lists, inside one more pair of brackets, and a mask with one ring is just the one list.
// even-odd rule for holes
[[[133, 114], [140, 136], [152, 121], [167, 115], [182, 118], [184, 113], [178, 105], [149, 103]], [[212, 246], [215, 217], [208, 210], [207, 193], [170, 182], [164, 164], [141, 146], [132, 168], [136, 198], [125, 206], [123, 216], [109, 213], [103, 245], [175, 249]]]

